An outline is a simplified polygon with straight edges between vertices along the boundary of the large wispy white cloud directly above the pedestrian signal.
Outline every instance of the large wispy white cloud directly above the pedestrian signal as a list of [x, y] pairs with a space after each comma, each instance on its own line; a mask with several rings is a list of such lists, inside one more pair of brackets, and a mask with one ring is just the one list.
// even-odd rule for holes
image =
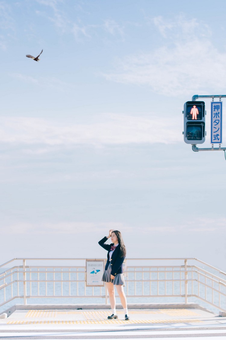
[[114, 72], [105, 73], [104, 77], [118, 83], [149, 86], [166, 96], [224, 91], [226, 53], [207, 39], [208, 27], [202, 27], [196, 19], [175, 20], [165, 23], [161, 17], [155, 18], [160, 33], [167, 38], [164, 45], [152, 47], [149, 53], [123, 58]]

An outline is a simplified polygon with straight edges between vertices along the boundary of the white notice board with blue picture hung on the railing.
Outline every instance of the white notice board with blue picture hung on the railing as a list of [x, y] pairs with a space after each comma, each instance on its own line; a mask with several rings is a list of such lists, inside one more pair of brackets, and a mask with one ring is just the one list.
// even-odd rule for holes
[[86, 287], [104, 286], [104, 260], [86, 260]]

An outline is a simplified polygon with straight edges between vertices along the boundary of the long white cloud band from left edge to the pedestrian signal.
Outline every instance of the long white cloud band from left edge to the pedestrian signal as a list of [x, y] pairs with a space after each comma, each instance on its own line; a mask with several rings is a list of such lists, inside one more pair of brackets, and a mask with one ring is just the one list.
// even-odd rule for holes
[[182, 141], [180, 122], [158, 116], [102, 115], [89, 124], [26, 117], [1, 117], [3, 143], [60, 145], [119, 145], [128, 143], [175, 143]]

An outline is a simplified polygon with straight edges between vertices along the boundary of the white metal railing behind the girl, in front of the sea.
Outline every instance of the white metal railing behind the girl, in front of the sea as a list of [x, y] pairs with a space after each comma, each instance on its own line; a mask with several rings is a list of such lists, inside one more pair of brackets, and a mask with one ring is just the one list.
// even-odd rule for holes
[[[48, 304], [56, 299], [72, 304], [105, 299], [107, 303], [105, 287], [86, 287], [85, 260], [15, 258], [4, 263], [0, 266], [0, 308], [15, 299], [23, 299], [23, 304], [28, 300], [37, 303], [37, 299]], [[13, 267], [7, 268], [9, 264]], [[132, 258], [127, 259], [124, 274], [129, 303], [142, 299], [159, 302], [162, 298], [187, 303], [193, 297], [205, 307], [226, 311], [226, 273], [199, 259]]]

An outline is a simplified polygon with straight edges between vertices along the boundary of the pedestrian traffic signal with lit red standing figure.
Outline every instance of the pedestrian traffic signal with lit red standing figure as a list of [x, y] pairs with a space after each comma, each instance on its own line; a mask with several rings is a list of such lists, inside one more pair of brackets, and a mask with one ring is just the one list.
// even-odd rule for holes
[[184, 141], [187, 144], [202, 144], [205, 141], [205, 103], [184, 104]]

